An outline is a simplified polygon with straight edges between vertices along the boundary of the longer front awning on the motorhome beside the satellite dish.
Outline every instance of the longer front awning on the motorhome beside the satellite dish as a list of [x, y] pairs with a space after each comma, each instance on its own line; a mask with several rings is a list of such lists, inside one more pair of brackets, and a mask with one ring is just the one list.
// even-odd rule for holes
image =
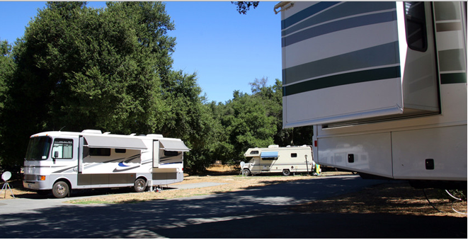
[[84, 136], [88, 147], [111, 149], [147, 149], [141, 139], [130, 137]]

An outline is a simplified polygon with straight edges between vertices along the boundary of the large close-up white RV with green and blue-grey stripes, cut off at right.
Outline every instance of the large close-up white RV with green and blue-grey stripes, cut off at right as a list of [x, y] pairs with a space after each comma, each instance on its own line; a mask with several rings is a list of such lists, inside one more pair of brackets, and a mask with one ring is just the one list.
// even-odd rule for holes
[[361, 176], [467, 183], [467, 2], [280, 2], [283, 127]]

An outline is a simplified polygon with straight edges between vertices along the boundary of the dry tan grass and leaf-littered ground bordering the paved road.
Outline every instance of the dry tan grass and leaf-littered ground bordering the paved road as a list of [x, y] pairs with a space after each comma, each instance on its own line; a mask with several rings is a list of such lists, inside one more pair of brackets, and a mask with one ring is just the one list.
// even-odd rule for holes
[[[264, 185], [278, 184], [286, 181], [297, 181], [301, 179], [317, 178], [317, 176], [239, 176], [239, 172], [229, 166], [213, 166], [209, 168], [208, 176], [186, 176], [182, 183], [169, 185], [171, 190], [163, 190], [160, 193], [129, 193], [131, 190], [110, 190], [79, 200], [71, 200], [69, 203], [76, 204], [118, 204], [141, 202], [148, 200], [164, 200], [172, 198], [185, 198], [194, 195], [210, 195], [217, 193], [228, 193], [236, 190], [258, 188]], [[228, 171], [228, 173], [227, 173]], [[324, 172], [322, 176], [350, 174], [348, 172]], [[188, 183], [224, 183], [222, 185], [194, 188], [176, 189], [179, 184]], [[11, 184], [13, 194], [17, 198], [40, 198], [35, 192], [25, 190], [18, 183]], [[438, 212], [428, 204], [423, 190], [412, 188], [408, 183], [387, 183], [375, 185], [358, 193], [349, 193], [335, 198], [318, 200], [307, 204], [291, 207], [299, 212], [349, 212], [349, 213], [389, 213], [396, 215], [435, 215], [466, 217], [452, 210], [450, 200], [441, 198], [440, 191], [435, 189], [426, 190], [430, 202], [443, 212]], [[88, 194], [89, 195], [89, 194]], [[6, 199], [12, 198], [9, 190]], [[0, 201], [5, 199], [4, 192], [0, 195]], [[459, 212], [467, 211], [467, 202], [456, 202], [453, 205]]]

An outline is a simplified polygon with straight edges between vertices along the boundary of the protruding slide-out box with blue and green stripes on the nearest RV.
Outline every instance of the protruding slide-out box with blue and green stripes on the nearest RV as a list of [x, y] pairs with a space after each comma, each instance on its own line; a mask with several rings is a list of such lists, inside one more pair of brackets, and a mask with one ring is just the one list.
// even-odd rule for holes
[[433, 37], [413, 55], [403, 2], [295, 2], [281, 14], [283, 127], [438, 113], [435, 63], [414, 66], [434, 56]]

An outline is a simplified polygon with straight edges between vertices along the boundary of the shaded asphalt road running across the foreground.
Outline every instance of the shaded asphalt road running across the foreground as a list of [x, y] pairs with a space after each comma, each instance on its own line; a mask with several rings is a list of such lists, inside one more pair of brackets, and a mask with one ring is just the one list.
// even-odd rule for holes
[[[217, 195], [121, 205], [0, 201], [8, 238], [467, 238], [467, 218], [300, 213], [288, 206], [384, 181], [312, 178]], [[66, 199], [69, 200], [69, 199]]]

